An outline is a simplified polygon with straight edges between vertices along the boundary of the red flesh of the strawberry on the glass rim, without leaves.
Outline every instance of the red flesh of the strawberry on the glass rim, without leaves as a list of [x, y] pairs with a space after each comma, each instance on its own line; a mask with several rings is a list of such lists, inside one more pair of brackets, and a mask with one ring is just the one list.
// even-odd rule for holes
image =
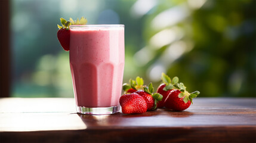
[[65, 51], [69, 51], [70, 30], [62, 27], [57, 33], [58, 41]]

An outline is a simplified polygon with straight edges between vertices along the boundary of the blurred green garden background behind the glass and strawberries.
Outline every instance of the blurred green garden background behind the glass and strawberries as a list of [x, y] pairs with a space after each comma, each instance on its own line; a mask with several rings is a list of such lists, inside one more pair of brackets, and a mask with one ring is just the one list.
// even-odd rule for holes
[[12, 0], [11, 97], [73, 97], [60, 17], [125, 24], [124, 82], [180, 77], [200, 97], [255, 97], [254, 0]]

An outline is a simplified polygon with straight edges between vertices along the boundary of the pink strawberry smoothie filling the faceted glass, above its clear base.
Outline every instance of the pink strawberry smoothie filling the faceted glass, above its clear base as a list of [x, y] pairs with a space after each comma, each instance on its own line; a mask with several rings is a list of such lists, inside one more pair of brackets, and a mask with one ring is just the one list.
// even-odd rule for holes
[[70, 27], [70, 69], [76, 105], [119, 105], [124, 74], [124, 26]]

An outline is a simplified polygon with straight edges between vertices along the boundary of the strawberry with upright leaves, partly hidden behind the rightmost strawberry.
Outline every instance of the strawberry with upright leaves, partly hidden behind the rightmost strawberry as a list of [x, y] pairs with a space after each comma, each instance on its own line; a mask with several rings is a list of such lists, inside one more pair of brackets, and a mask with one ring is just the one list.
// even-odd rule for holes
[[171, 80], [171, 78], [167, 76], [165, 73], [162, 73], [161, 79], [164, 83], [158, 86], [158, 90], [156, 92], [163, 95], [163, 99], [162, 101], [158, 102], [158, 107], [164, 107], [166, 97], [169, 95], [169, 92], [171, 92], [172, 89], [174, 89], [173, 85], [178, 83], [177, 76], [173, 77]]

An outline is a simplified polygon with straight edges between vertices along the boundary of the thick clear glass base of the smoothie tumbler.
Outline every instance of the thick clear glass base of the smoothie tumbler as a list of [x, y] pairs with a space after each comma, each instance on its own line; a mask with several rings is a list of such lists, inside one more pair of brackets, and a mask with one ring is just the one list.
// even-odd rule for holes
[[76, 106], [76, 111], [81, 114], [115, 114], [120, 110], [120, 106], [112, 107], [82, 107]]

